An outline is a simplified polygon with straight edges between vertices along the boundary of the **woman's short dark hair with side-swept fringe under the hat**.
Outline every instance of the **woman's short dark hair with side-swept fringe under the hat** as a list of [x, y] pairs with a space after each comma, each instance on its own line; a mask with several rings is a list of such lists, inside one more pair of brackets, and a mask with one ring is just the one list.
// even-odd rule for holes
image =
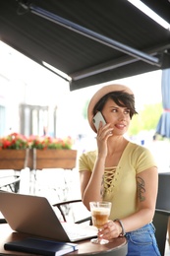
[[111, 92], [105, 96], [102, 96], [99, 101], [95, 104], [93, 108], [93, 115], [96, 114], [97, 111], [102, 111], [106, 101], [111, 98], [115, 101], [115, 103], [119, 106], [127, 107], [130, 109], [130, 117], [132, 119], [134, 114], [138, 114], [135, 108], [135, 96], [127, 94], [124, 91], [116, 91]]

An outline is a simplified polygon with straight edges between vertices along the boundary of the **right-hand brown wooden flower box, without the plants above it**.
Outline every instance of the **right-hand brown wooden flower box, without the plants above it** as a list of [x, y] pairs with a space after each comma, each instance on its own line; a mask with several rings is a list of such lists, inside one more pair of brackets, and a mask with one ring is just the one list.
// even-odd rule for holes
[[31, 150], [32, 169], [73, 169], [77, 162], [76, 150]]

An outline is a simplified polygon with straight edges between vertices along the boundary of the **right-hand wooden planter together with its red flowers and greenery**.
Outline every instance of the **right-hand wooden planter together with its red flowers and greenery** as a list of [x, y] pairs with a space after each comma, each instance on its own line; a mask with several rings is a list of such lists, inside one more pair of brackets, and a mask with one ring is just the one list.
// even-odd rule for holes
[[72, 150], [74, 141], [70, 136], [64, 139], [31, 136], [28, 140], [32, 149], [32, 169], [73, 169], [76, 166], [77, 151]]

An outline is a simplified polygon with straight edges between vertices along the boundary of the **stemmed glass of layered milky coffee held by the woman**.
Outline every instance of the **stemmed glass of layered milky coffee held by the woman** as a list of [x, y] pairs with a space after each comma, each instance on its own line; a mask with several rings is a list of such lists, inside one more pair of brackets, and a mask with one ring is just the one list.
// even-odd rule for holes
[[[92, 224], [97, 227], [98, 231], [102, 229], [103, 224], [108, 222], [111, 210], [110, 202], [90, 202], [90, 212], [92, 218]], [[102, 239], [102, 237], [97, 237], [91, 239], [92, 243], [105, 244], [109, 241]]]

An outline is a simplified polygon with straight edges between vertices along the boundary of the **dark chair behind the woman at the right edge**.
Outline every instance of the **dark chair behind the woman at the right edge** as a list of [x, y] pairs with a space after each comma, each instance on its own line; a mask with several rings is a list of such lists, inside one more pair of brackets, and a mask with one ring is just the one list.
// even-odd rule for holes
[[159, 173], [156, 210], [153, 218], [155, 236], [161, 255], [164, 255], [170, 217], [170, 172]]

